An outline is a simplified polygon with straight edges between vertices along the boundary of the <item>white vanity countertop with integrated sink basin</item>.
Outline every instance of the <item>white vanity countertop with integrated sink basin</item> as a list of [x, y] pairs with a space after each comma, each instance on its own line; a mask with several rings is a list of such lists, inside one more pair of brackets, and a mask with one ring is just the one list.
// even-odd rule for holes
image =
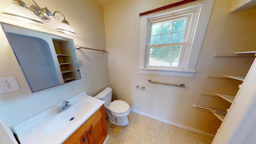
[[[13, 126], [21, 144], [61, 144], [76, 131], [105, 102], [82, 92], [68, 100], [72, 104], [62, 108], [58, 104]], [[74, 120], [69, 121], [70, 118]]]

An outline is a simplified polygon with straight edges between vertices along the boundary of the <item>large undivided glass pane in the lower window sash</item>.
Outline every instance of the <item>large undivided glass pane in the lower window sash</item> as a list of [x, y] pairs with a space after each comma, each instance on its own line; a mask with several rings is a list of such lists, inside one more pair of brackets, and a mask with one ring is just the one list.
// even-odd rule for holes
[[148, 66], [178, 67], [182, 46], [158, 46], [150, 48]]

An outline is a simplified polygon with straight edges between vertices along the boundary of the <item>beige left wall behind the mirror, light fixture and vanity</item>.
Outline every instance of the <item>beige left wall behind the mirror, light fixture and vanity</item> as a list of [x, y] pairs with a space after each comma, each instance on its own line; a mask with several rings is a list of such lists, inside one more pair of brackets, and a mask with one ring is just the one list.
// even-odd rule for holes
[[[32, 4], [31, 0], [23, 1], [28, 6]], [[106, 50], [103, 8], [96, 0], [36, 0], [36, 2], [41, 7], [47, 6], [52, 12], [62, 12], [78, 36], [69, 36], [54, 30], [63, 19], [61, 15], [58, 15], [61, 20], [52, 19], [46, 26], [15, 23], [15, 21], [14, 24], [73, 38], [76, 45]], [[0, 3], [0, 12], [3, 12], [12, 1], [0, 0]], [[1, 20], [5, 20], [4, 17], [1, 17]], [[76, 50], [78, 59], [82, 59], [84, 63], [84, 66], [80, 67], [81, 80], [31, 93], [2, 28], [0, 28], [0, 37], [0, 78], [16, 76], [21, 88], [0, 94], [0, 116], [7, 126], [13, 126], [83, 91], [95, 96], [109, 86], [107, 54]]]

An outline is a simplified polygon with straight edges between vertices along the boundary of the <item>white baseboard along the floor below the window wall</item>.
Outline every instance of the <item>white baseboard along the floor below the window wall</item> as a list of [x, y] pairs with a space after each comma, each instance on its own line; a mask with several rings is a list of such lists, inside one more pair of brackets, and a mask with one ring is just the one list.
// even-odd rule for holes
[[162, 119], [162, 118], [158, 118], [158, 117], [156, 117], [156, 116], [152, 116], [152, 115], [150, 115], [150, 114], [146, 114], [146, 113], [140, 112], [140, 111], [138, 111], [138, 110], [131, 109], [131, 111], [132, 111], [132, 112], [135, 112], [135, 113], [138, 113], [138, 114], [141, 114], [141, 115], [143, 115], [143, 116], [147, 116], [147, 117], [149, 117], [149, 118], [153, 118], [153, 119], [158, 120], [158, 121], [160, 121], [160, 122], [164, 122], [164, 123], [166, 123], [166, 124], [170, 124], [170, 125], [172, 125], [172, 126], [176, 126], [176, 127], [178, 127], [178, 128], [182, 128], [182, 129], [184, 129], [184, 130], [188, 130], [188, 131], [190, 131], [190, 132], [194, 132], [194, 133], [200, 134], [200, 135], [202, 135], [202, 136], [206, 136], [206, 137], [208, 137], [208, 138], [214, 138], [214, 135], [212, 135], [212, 134], [208, 134], [208, 133], [206, 133], [206, 132], [202, 132], [202, 131], [200, 131], [200, 130], [196, 130], [196, 129], [194, 129], [194, 128], [190, 128], [190, 127], [188, 127], [188, 126], [183, 126], [183, 125], [177, 124], [177, 123], [175, 123], [175, 122], [171, 122], [171, 121], [168, 121], [168, 120], [164, 120], [164, 119]]

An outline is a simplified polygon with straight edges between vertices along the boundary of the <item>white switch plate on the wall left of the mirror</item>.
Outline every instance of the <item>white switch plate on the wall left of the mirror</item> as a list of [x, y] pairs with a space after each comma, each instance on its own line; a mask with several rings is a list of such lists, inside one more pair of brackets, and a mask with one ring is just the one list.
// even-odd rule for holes
[[0, 94], [5, 92], [11, 92], [14, 90], [20, 90], [20, 86], [15, 76], [8, 78], [0, 78]]

